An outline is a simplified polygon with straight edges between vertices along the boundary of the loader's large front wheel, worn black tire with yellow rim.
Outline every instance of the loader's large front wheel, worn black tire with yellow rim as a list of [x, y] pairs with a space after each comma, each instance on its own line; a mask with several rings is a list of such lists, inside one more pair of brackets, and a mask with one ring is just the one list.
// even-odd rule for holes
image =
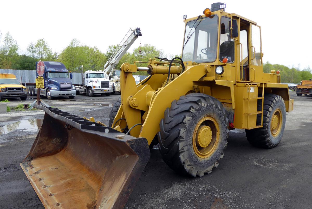
[[228, 125], [226, 111], [216, 98], [201, 93], [181, 96], [160, 121], [158, 141], [163, 160], [178, 174], [195, 177], [211, 173], [224, 155]]

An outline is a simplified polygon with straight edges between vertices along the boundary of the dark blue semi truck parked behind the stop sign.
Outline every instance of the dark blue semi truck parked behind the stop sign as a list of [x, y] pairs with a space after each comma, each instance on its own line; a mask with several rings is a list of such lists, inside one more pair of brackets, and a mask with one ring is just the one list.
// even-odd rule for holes
[[[43, 61], [44, 63], [44, 89], [40, 89], [40, 95], [47, 99], [53, 97], [69, 97], [74, 99], [76, 87], [71, 83], [73, 75], [68, 72], [61, 62]], [[36, 62], [37, 66], [38, 62]], [[38, 76], [38, 73], [36, 73]], [[34, 88], [34, 87], [32, 87]], [[37, 95], [37, 88], [32, 89], [32, 93]]]

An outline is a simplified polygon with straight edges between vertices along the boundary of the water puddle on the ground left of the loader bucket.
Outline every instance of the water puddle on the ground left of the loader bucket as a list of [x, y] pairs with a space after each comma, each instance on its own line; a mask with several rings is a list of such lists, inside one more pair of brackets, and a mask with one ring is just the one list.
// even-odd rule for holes
[[15, 130], [38, 131], [42, 125], [42, 119], [29, 119], [15, 121], [11, 124], [0, 127], [0, 135], [7, 134]]

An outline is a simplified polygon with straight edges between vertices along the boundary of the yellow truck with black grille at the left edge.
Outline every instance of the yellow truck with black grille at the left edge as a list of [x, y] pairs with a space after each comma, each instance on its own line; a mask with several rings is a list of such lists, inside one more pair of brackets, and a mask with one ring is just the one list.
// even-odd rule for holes
[[19, 97], [27, 99], [26, 87], [23, 86], [16, 76], [9, 73], [0, 73], [0, 101], [4, 98]]

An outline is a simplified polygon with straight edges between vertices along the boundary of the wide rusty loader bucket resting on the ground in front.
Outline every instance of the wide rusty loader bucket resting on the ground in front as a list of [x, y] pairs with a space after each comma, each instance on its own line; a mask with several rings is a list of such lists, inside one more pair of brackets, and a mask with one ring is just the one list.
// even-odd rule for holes
[[134, 138], [55, 108], [20, 164], [45, 208], [123, 208], [150, 152]]

